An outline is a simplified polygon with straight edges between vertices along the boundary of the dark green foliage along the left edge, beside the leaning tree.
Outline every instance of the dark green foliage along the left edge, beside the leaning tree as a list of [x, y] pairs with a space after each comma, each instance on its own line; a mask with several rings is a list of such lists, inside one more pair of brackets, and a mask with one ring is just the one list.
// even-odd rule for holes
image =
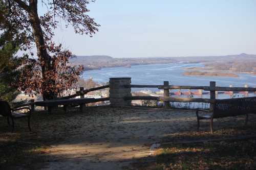
[[3, 16], [6, 13], [3, 1], [0, 1], [0, 5], [0, 99], [12, 101], [17, 94], [14, 82], [18, 80], [18, 67], [23, 60], [15, 54], [23, 39], [22, 36], [14, 38], [17, 32], [12, 23]]

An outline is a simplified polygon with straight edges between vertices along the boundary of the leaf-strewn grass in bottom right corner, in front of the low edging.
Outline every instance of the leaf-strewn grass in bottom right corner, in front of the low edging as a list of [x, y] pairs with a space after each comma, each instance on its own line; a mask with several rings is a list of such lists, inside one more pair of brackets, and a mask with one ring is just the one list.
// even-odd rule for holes
[[256, 139], [163, 145], [155, 159], [131, 169], [256, 169]]

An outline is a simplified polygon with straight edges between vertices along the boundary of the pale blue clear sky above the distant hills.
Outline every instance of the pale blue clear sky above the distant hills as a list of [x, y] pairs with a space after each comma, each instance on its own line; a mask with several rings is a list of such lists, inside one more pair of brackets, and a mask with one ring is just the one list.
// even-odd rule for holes
[[256, 54], [254, 0], [96, 0], [88, 8], [101, 25], [92, 38], [72, 28], [55, 30], [54, 40], [75, 55]]

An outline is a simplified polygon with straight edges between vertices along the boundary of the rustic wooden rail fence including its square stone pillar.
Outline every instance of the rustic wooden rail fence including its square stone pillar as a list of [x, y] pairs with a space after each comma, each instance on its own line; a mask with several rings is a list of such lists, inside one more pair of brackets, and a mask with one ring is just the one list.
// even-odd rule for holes
[[[104, 88], [110, 88], [110, 98], [100, 98], [100, 99], [94, 99], [93, 100], [88, 100], [84, 98], [84, 94], [87, 94], [90, 91], [95, 91], [95, 90], [100, 90]], [[163, 89], [163, 96], [132, 96], [131, 94], [131, 88], [158, 88], [158, 89]], [[170, 96], [170, 91], [172, 89], [188, 89], [188, 90], [205, 90], [209, 91], [210, 93], [210, 98], [209, 99], [204, 99], [204, 98], [174, 98]], [[65, 101], [61, 100], [66, 100], [67, 105], [70, 104], [71, 102], [72, 105], [76, 105], [76, 101], [79, 101], [80, 107], [85, 103], [88, 102], [99, 102], [99, 101], [110, 101], [111, 105], [113, 106], [130, 106], [132, 100], [157, 100], [157, 101], [162, 101], [164, 102], [164, 107], [169, 107], [170, 102], [197, 102], [197, 103], [209, 103], [210, 108], [212, 105], [215, 103], [215, 98], [216, 98], [216, 91], [256, 91], [256, 87], [218, 87], [216, 86], [216, 82], [211, 81], [209, 86], [175, 86], [175, 85], [169, 85], [168, 81], [164, 81], [163, 85], [136, 85], [136, 84], [131, 84], [131, 78], [111, 78], [110, 79], [110, 85], [106, 86], [100, 86], [100, 87], [94, 87], [91, 89], [84, 89], [83, 87], [80, 87], [80, 90], [77, 91], [73, 95], [69, 96], [64, 96], [61, 98], [56, 99], [55, 103], [56, 105], [58, 103], [65, 103]], [[76, 96], [80, 96], [79, 100], [72, 100], [72, 98], [75, 98]], [[84, 99], [83, 99], [84, 98]], [[69, 101], [70, 100], [70, 101]], [[82, 104], [84, 100], [84, 104]], [[61, 101], [61, 102], [60, 102]], [[46, 105], [48, 102], [30, 102], [29, 104], [22, 105], [22, 106], [31, 106], [32, 109], [34, 109], [34, 106], [38, 104], [38, 106]], [[54, 103], [54, 100], [50, 102], [51, 104]]]

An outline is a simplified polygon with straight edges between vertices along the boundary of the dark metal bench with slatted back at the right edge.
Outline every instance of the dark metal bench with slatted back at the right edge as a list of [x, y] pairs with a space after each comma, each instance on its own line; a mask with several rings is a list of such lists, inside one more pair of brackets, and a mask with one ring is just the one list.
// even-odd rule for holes
[[[210, 112], [212, 114], [199, 115], [199, 111]], [[256, 97], [237, 98], [237, 99], [219, 99], [215, 100], [212, 110], [197, 109], [197, 130], [199, 131], [200, 120], [210, 120], [210, 132], [213, 133], [213, 119], [246, 115], [245, 125], [248, 122], [248, 114], [256, 114]]]

